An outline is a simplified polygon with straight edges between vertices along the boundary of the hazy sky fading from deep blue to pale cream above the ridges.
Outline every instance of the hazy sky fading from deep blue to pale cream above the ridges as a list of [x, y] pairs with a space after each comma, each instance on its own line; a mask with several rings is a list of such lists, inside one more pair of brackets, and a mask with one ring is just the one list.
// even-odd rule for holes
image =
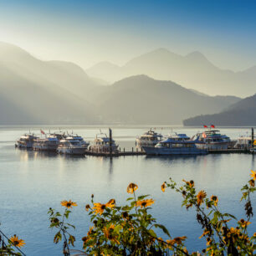
[[0, 0], [0, 41], [84, 69], [157, 48], [247, 69], [256, 64], [256, 1]]

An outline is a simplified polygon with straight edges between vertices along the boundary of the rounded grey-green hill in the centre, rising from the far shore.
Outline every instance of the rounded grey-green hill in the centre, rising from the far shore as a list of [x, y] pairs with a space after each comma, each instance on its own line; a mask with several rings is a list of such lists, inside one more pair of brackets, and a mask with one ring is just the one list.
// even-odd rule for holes
[[215, 113], [240, 100], [200, 95], [172, 81], [136, 75], [105, 87], [96, 96], [106, 122], [177, 125], [195, 114]]

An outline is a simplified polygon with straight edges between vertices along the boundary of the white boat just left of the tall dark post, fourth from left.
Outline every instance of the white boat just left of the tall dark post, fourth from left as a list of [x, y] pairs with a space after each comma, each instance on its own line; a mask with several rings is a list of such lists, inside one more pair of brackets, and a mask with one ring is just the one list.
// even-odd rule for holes
[[95, 152], [118, 152], [118, 145], [115, 144], [115, 141], [110, 141], [110, 138], [105, 133], [97, 134], [95, 141], [92, 145], [89, 146], [89, 151]]

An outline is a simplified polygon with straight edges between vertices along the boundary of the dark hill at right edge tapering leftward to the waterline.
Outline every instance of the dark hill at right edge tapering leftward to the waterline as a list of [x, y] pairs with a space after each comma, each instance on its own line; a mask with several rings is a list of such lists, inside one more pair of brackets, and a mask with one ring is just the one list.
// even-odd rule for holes
[[251, 126], [256, 125], [256, 94], [228, 106], [226, 110], [214, 115], [197, 115], [183, 121], [186, 126], [193, 125], [224, 125]]

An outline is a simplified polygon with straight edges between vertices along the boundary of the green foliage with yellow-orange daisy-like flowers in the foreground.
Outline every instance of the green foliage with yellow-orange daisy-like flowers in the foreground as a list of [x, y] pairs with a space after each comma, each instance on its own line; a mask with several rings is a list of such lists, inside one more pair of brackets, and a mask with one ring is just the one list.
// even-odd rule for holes
[[[253, 171], [252, 171], [253, 172]], [[136, 198], [136, 184], [131, 183], [127, 187], [127, 192], [133, 197], [126, 199], [124, 206], [117, 206], [115, 199], [110, 199], [107, 203], [94, 202], [94, 195], [91, 197], [91, 205], [87, 204], [85, 210], [89, 213], [92, 226], [88, 233], [82, 238], [83, 250], [74, 250], [79, 255], [253, 255], [255, 251], [256, 233], [248, 236], [249, 220], [253, 216], [253, 207], [250, 195], [255, 191], [255, 172], [251, 175], [247, 185], [242, 188], [243, 196], [241, 201], [245, 201], [244, 210], [246, 220], [239, 221], [232, 214], [220, 212], [218, 208], [218, 197], [212, 195], [207, 197], [204, 191], [197, 192], [193, 181], [184, 181], [182, 187], [177, 187], [177, 183], [170, 178], [170, 182], [161, 185], [162, 192], [166, 188], [182, 195], [182, 206], [187, 210], [194, 207], [197, 212], [197, 222], [202, 226], [203, 233], [200, 238], [206, 240], [206, 247], [201, 253], [188, 253], [184, 241], [186, 236], [172, 238], [171, 233], [165, 226], [156, 222], [149, 210], [155, 202], [149, 199], [149, 195]], [[67, 228], [74, 226], [64, 223], [64, 219], [69, 218], [70, 205], [76, 206], [75, 202], [61, 202], [66, 206], [64, 214], [54, 212], [49, 209], [50, 227], [58, 228], [55, 234], [54, 243], [59, 243], [62, 236], [65, 237]], [[62, 218], [62, 220], [60, 220]], [[233, 220], [236, 227], [229, 227], [228, 223]], [[156, 233], [165, 234], [169, 239], [164, 241]], [[69, 245], [74, 246], [75, 238], [69, 234], [69, 240], [64, 239], [65, 255], [70, 255]]]

